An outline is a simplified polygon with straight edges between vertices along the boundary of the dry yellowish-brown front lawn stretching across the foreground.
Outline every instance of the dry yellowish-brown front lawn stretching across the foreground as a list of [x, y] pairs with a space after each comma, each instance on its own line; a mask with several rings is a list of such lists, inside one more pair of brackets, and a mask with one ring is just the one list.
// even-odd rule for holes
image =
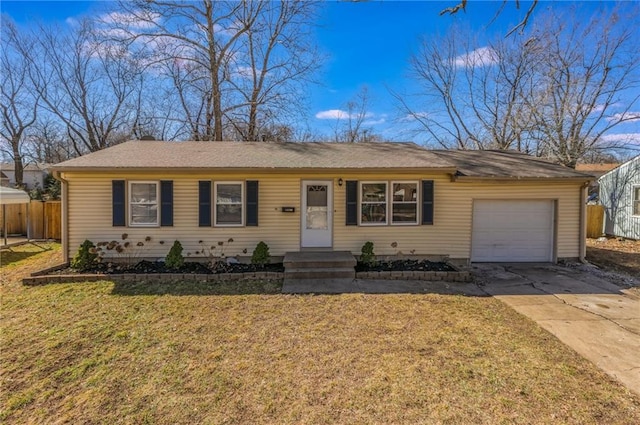
[[2, 253], [0, 422], [640, 423], [640, 397], [489, 297], [18, 282], [58, 254]]

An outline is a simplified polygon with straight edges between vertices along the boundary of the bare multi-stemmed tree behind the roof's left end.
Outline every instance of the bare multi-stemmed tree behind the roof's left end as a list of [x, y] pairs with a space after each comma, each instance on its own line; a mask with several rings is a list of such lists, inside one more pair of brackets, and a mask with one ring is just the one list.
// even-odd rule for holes
[[95, 35], [88, 20], [69, 31], [39, 26], [34, 48], [20, 50], [31, 64], [42, 112], [64, 125], [76, 155], [128, 139], [142, 89], [136, 60]]

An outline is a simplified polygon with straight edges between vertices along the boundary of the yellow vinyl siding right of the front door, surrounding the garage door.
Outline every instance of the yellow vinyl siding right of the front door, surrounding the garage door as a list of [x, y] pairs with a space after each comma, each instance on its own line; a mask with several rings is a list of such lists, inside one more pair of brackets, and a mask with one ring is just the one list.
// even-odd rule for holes
[[[557, 200], [557, 256], [579, 257], [580, 184], [520, 182], [451, 182], [448, 176], [406, 176], [434, 180], [434, 224], [417, 226], [345, 226], [345, 188], [336, 188], [334, 249], [359, 253], [366, 241], [374, 243], [377, 255], [448, 255], [467, 259], [471, 253], [474, 199]], [[344, 177], [343, 177], [344, 178]], [[396, 179], [381, 176], [381, 180]], [[392, 243], [397, 247], [392, 247]]]

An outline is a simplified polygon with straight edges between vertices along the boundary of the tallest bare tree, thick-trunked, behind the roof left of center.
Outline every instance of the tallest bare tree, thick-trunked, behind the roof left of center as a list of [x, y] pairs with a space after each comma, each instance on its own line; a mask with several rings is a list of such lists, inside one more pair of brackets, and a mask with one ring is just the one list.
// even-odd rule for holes
[[318, 61], [309, 42], [315, 5], [294, 1], [125, 1], [109, 23], [118, 39], [171, 81], [190, 138], [225, 129], [259, 140], [298, 111], [299, 85]]

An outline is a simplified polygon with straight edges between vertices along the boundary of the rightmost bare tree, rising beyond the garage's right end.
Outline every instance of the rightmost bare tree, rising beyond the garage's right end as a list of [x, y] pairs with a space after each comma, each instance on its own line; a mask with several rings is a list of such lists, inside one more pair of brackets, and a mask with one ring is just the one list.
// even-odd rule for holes
[[[611, 149], [602, 136], [636, 120], [640, 94], [640, 53], [631, 16], [619, 11], [583, 24], [575, 17], [545, 19], [533, 37], [544, 52], [539, 80], [527, 97], [535, 114], [541, 150], [561, 164], [575, 167], [591, 150]], [[622, 99], [622, 94], [630, 98]], [[614, 112], [615, 111], [615, 112]]]

